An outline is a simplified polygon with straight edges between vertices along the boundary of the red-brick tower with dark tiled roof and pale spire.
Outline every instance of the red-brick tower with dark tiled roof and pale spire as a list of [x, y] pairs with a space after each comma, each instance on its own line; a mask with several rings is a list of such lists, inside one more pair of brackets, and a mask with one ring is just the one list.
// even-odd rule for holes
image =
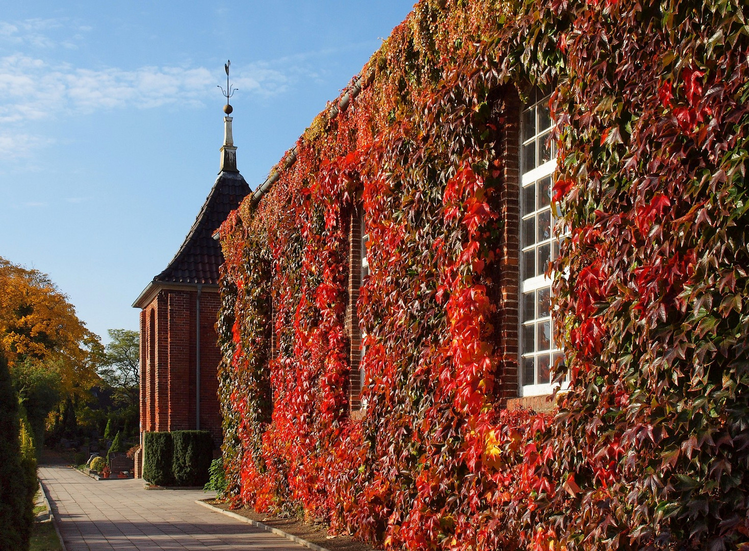
[[[231, 113], [231, 106], [225, 106]], [[213, 234], [249, 193], [237, 170], [231, 117], [224, 117], [224, 144], [216, 183], [169, 265], [148, 282], [133, 307], [140, 308], [140, 433], [207, 430], [216, 448], [222, 439], [216, 369], [219, 266], [224, 261]], [[136, 476], [142, 472], [142, 448]]]

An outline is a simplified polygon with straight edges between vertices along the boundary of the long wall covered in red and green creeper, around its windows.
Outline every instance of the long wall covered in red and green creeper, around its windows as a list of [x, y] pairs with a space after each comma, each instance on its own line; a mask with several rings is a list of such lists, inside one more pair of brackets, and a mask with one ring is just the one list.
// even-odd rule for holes
[[[749, 547], [748, 16], [419, 2], [348, 109], [222, 226], [234, 502], [388, 549]], [[571, 382], [551, 415], [500, 391], [517, 380], [506, 151], [534, 85], [552, 91], [571, 232], [554, 266]], [[350, 415], [360, 208], [367, 405]]]

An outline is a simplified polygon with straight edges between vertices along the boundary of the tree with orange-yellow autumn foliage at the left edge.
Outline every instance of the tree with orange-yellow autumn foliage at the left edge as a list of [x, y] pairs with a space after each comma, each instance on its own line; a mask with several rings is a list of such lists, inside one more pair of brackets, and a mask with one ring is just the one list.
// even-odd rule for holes
[[[46, 274], [13, 265], [2, 257], [0, 349], [22, 403], [27, 399], [33, 402], [31, 394], [42, 379], [46, 386], [54, 387], [51, 390], [58, 400], [85, 397], [100, 382], [97, 367], [103, 347], [99, 337], [88, 331], [73, 305]], [[49, 412], [54, 406], [44, 409]], [[39, 427], [38, 419], [31, 418], [38, 415], [28, 413], [34, 433], [41, 436], [43, 427]]]

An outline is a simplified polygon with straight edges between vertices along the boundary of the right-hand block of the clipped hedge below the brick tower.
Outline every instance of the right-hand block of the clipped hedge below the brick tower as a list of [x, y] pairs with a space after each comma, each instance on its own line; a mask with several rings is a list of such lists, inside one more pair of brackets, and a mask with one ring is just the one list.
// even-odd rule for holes
[[205, 430], [172, 432], [172, 475], [177, 486], [203, 486], [213, 459], [213, 439]]

